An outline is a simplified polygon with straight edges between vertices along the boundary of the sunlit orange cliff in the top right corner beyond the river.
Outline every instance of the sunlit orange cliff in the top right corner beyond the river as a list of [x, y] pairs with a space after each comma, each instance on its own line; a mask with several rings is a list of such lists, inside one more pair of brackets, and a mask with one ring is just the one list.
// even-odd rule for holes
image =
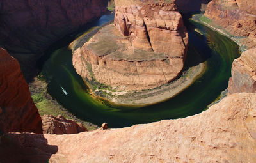
[[213, 0], [208, 4], [205, 16], [240, 40], [247, 49], [256, 47], [256, 1]]

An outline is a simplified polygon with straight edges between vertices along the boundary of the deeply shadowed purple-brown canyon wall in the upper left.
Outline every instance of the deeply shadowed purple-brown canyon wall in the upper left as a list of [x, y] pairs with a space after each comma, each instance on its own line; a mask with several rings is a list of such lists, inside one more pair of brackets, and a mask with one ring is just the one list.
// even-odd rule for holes
[[106, 12], [108, 0], [2, 0], [0, 45], [11, 52], [25, 75], [45, 48]]

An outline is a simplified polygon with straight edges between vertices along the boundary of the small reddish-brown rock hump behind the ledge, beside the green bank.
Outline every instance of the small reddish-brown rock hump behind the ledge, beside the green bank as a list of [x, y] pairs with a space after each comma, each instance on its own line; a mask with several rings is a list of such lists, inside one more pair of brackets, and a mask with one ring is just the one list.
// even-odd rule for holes
[[77, 124], [75, 121], [67, 120], [61, 115], [57, 117], [52, 115], [42, 116], [42, 127], [44, 134], [77, 134], [87, 131], [81, 123]]

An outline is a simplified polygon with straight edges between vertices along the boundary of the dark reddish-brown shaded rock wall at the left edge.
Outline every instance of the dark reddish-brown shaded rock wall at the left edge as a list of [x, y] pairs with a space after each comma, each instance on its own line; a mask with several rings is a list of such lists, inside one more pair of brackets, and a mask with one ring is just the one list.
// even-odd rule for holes
[[42, 122], [30, 97], [18, 61], [0, 48], [0, 131], [42, 133]]

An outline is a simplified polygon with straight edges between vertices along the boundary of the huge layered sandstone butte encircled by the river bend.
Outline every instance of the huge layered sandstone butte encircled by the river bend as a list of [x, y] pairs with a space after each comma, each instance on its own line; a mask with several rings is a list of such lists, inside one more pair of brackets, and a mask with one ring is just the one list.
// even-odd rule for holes
[[175, 79], [188, 47], [175, 3], [115, 3], [116, 28], [104, 27], [74, 52], [77, 73], [124, 91], [152, 89]]

